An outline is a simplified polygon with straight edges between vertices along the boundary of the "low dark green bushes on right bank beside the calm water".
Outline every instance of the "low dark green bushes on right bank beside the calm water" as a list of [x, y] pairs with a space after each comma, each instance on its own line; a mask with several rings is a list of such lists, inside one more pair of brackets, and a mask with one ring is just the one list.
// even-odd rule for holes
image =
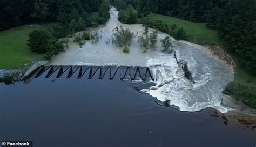
[[231, 95], [236, 100], [241, 100], [246, 105], [256, 109], [256, 89], [231, 82], [226, 86], [224, 94]]

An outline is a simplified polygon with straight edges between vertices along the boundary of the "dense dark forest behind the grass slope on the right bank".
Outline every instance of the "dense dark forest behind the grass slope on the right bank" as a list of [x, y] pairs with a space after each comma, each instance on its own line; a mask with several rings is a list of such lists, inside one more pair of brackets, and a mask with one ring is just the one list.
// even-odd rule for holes
[[239, 55], [240, 63], [256, 75], [255, 0], [113, 0], [112, 3], [120, 10], [127, 9], [125, 21], [135, 18], [129, 16], [136, 12], [123, 6], [131, 4], [138, 18], [153, 12], [206, 23], [207, 27], [219, 31], [226, 48]]

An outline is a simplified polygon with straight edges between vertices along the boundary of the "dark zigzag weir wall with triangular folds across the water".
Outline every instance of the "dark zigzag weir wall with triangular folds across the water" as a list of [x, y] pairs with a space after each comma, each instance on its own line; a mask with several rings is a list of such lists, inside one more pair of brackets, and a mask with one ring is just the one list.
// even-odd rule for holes
[[[154, 80], [149, 67], [132, 66], [52, 66], [43, 65], [31, 73], [35, 78], [119, 78], [120, 80]], [[27, 77], [28, 78], [28, 77]]]

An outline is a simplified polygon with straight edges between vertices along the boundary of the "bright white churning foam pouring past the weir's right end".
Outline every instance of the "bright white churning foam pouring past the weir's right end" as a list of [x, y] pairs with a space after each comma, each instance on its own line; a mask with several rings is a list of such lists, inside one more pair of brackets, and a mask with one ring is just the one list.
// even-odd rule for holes
[[[178, 106], [180, 111], [200, 111], [201, 109], [214, 107], [220, 112], [226, 113], [229, 109], [221, 106], [221, 91], [224, 85], [220, 85], [214, 77], [211, 68], [205, 66], [202, 73], [197, 73], [198, 63], [190, 58], [192, 75], [196, 76], [196, 83], [192, 84], [184, 77], [184, 72], [176, 65], [172, 55], [161, 55], [158, 58], [150, 58], [147, 65], [161, 65], [151, 67], [156, 79], [156, 86], [144, 89], [160, 101], [170, 100], [171, 105]], [[212, 85], [210, 87], [210, 85]]]

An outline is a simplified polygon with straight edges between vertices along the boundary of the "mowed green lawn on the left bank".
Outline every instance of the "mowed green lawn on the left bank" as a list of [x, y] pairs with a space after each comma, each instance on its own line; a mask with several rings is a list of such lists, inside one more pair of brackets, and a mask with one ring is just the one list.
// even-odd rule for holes
[[24, 64], [42, 59], [43, 54], [31, 52], [28, 45], [28, 35], [33, 30], [46, 28], [51, 24], [36, 26], [20, 26], [0, 32], [0, 69], [22, 69]]

